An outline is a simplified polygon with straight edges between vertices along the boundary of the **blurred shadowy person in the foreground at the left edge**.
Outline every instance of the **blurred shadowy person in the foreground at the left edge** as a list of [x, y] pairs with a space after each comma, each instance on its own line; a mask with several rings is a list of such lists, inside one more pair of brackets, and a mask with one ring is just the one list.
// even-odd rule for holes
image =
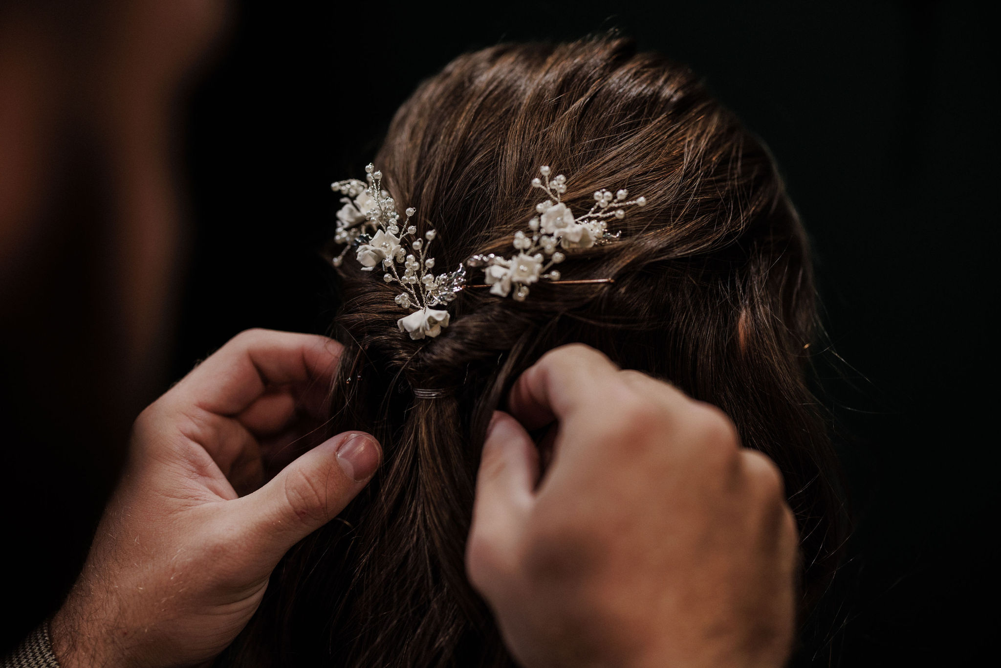
[[0, 5], [0, 653], [82, 564], [129, 425], [164, 384], [177, 93], [215, 0]]

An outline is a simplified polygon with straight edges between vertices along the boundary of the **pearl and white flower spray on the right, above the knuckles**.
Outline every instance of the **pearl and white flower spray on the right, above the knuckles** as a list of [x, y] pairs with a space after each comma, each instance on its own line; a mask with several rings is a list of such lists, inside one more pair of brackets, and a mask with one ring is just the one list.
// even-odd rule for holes
[[557, 174], [550, 178], [549, 166], [539, 168], [542, 178], [532, 179], [533, 187], [540, 188], [549, 199], [536, 205], [539, 215], [529, 221], [527, 231], [515, 233], [514, 246], [518, 253], [511, 257], [499, 257], [493, 253], [473, 255], [466, 260], [469, 266], [482, 267], [484, 282], [490, 285], [490, 293], [512, 296], [522, 301], [529, 295], [529, 285], [540, 279], [560, 280], [560, 271], [555, 264], [566, 259], [562, 249], [590, 248], [619, 238], [619, 232], [608, 229], [610, 218], [622, 219], [626, 207], [643, 206], [646, 197], [627, 201], [629, 191], [625, 188], [615, 194], [601, 189], [595, 192], [595, 204], [591, 210], [579, 217], [561, 200], [567, 192], [567, 177]]

